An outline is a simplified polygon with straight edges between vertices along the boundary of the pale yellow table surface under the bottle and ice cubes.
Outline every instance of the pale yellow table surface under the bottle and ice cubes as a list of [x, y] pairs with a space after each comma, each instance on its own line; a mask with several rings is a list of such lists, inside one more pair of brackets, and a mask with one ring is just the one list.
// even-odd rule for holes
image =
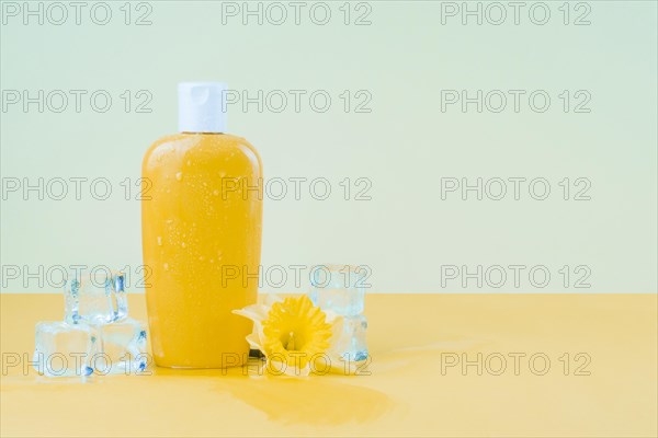
[[[35, 322], [63, 315], [58, 295], [0, 299], [3, 358], [31, 354]], [[144, 296], [129, 306], [146, 318]], [[1, 379], [1, 435], [655, 437], [657, 311], [656, 295], [371, 295], [370, 376], [154, 367], [70, 383], [13, 367]], [[442, 373], [452, 354], [478, 353], [481, 376]], [[515, 353], [526, 355], [518, 376]], [[551, 360], [543, 376], [534, 354]]]

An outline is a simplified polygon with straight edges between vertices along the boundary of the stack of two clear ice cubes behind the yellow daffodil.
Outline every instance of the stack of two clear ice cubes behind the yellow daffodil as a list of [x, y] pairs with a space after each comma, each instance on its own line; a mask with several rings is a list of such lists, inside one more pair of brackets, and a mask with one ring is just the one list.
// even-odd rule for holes
[[311, 269], [309, 298], [322, 310], [343, 318], [337, 347], [348, 360], [367, 358], [367, 319], [363, 314], [368, 270], [350, 265], [319, 265]]

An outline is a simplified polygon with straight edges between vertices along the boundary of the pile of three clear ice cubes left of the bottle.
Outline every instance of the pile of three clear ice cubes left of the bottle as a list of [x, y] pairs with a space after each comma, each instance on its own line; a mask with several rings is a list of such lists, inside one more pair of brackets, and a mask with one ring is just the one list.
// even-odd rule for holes
[[35, 327], [34, 368], [46, 377], [137, 373], [146, 369], [145, 325], [128, 318], [124, 275], [73, 273], [64, 321]]

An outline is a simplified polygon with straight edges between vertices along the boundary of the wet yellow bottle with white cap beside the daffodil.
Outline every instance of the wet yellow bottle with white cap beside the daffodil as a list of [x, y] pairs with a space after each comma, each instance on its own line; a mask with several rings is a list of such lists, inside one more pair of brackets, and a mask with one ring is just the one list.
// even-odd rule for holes
[[179, 84], [182, 134], [144, 157], [141, 235], [156, 365], [240, 366], [252, 325], [231, 313], [257, 300], [262, 164], [226, 129], [219, 83]]

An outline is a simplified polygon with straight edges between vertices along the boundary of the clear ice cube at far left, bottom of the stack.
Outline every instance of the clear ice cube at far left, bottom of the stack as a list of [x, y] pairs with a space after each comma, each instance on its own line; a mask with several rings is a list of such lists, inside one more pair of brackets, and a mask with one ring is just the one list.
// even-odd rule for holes
[[87, 377], [93, 372], [98, 333], [87, 324], [36, 324], [34, 368], [47, 377]]

